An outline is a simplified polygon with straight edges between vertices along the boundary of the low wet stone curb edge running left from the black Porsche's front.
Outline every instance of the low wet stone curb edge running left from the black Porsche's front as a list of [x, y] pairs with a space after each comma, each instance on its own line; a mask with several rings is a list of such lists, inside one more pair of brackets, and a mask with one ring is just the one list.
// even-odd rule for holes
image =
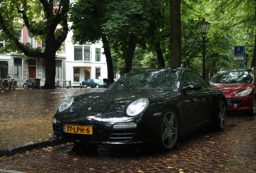
[[[21, 145], [15, 145], [12, 147], [0, 149], [0, 158], [4, 157], [4, 156], [14, 155], [16, 153], [22, 153], [26, 150], [35, 149], [37, 147], [58, 145], [58, 144], [62, 144], [62, 143], [66, 143], [66, 142], [55, 139], [54, 137], [50, 137], [50, 138], [47, 138], [45, 141], [34, 141], [34, 142], [29, 142], [29, 143], [25, 143], [25, 144], [21, 144]], [[3, 172], [0, 170], [0, 173], [3, 173]]]

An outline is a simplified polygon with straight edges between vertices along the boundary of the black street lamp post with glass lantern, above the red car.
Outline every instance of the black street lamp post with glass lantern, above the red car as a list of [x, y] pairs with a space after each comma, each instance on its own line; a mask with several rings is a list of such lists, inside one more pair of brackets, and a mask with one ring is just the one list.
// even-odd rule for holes
[[199, 32], [201, 34], [201, 37], [203, 39], [202, 41], [202, 47], [203, 47], [203, 69], [202, 69], [202, 76], [205, 78], [205, 41], [204, 41], [204, 38], [206, 37], [207, 33], [208, 33], [208, 30], [209, 30], [209, 27], [210, 27], [210, 24], [209, 22], [207, 22], [205, 20], [205, 18], [203, 17], [202, 20], [200, 20], [199, 22], [196, 22], [197, 26], [198, 26], [198, 29], [199, 29]]

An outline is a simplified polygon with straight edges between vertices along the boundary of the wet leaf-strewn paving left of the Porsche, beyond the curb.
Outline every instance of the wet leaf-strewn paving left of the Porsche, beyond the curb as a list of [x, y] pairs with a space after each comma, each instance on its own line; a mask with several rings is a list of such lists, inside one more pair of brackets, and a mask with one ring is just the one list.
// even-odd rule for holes
[[103, 89], [0, 91], [0, 150], [52, 137], [52, 117], [74, 95]]

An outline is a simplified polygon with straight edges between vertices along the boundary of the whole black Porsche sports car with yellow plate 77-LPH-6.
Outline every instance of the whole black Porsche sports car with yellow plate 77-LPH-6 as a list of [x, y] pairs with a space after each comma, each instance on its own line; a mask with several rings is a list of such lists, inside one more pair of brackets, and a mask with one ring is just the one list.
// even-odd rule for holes
[[54, 137], [89, 145], [175, 146], [198, 128], [223, 130], [227, 102], [186, 68], [128, 72], [109, 89], [71, 97], [53, 117]]

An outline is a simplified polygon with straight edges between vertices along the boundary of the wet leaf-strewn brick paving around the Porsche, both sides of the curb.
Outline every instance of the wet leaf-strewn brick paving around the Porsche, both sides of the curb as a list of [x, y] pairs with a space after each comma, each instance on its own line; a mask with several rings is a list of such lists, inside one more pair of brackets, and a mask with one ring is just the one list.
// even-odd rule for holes
[[[72, 95], [94, 91], [0, 93], [0, 151], [31, 141], [50, 141], [52, 116], [60, 103]], [[143, 147], [49, 143], [9, 156], [0, 154], [0, 173], [255, 173], [256, 117], [229, 113], [227, 122], [223, 132], [202, 129], [164, 153]]]

